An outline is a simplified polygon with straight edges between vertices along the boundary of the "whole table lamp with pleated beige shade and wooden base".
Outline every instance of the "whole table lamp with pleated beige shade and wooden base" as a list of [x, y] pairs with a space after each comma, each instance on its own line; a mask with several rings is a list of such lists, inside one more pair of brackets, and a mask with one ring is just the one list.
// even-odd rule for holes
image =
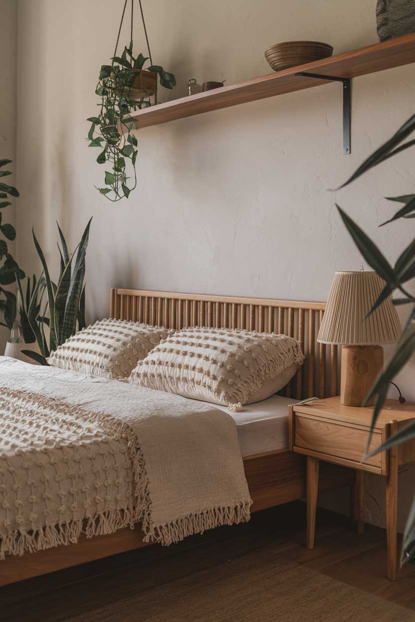
[[[381, 344], [396, 343], [402, 333], [389, 296], [368, 313], [385, 287], [376, 272], [335, 272], [317, 341], [342, 346], [340, 403], [362, 406], [383, 370]], [[367, 406], [373, 406], [375, 397]]]

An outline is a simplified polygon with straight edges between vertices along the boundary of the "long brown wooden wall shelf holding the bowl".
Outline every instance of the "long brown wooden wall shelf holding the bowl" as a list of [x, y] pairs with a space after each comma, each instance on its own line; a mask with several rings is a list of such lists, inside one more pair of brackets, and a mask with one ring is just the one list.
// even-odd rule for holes
[[415, 62], [415, 34], [410, 34], [307, 63], [307, 65], [292, 67], [282, 72], [269, 73], [259, 78], [215, 88], [206, 93], [157, 104], [157, 106], [133, 112], [131, 117], [136, 120], [138, 129], [147, 128], [194, 114], [207, 113], [247, 101], [263, 100], [266, 97], [292, 93], [292, 91], [328, 83], [327, 80], [296, 76], [298, 72], [355, 78], [413, 62]]

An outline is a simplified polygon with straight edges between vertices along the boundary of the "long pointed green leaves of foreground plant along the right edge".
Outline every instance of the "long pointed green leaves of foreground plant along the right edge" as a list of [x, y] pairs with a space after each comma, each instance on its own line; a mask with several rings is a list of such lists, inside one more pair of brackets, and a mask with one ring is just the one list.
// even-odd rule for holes
[[[385, 162], [390, 157], [395, 156], [410, 147], [415, 146], [415, 139], [406, 141], [406, 139], [415, 131], [415, 114], [396, 131], [388, 141], [369, 156], [363, 164], [358, 167], [355, 173], [343, 184], [342, 187], [353, 182], [355, 179], [363, 175], [366, 171], [373, 167]], [[404, 142], [406, 141], [406, 142]], [[408, 159], [408, 165], [413, 160]], [[388, 218], [384, 223], [379, 226], [388, 225], [389, 223], [395, 223], [401, 218], [415, 218], [415, 194], [405, 194], [399, 197], [388, 197], [388, 201], [394, 203], [401, 203], [403, 207], [399, 208], [391, 218]], [[365, 404], [376, 396], [376, 404], [373, 409], [373, 417], [371, 421], [371, 432], [375, 427], [376, 420], [380, 414], [381, 408], [385, 404], [386, 395], [388, 394], [389, 383], [393, 381], [396, 374], [404, 368], [409, 362], [411, 356], [415, 353], [415, 295], [413, 290], [408, 290], [408, 282], [412, 281], [415, 277], [415, 238], [411, 243], [403, 249], [394, 266], [389, 263], [385, 258], [381, 250], [375, 243], [366, 235], [364, 231], [355, 223], [350, 216], [348, 216], [343, 210], [338, 207], [338, 211], [346, 226], [348, 232], [352, 236], [354, 243], [359, 249], [366, 262], [375, 270], [379, 276], [385, 281], [385, 288], [380, 294], [379, 299], [376, 301], [373, 309], [371, 309], [369, 315], [373, 313], [383, 302], [398, 291], [402, 297], [393, 300], [395, 305], [409, 305], [409, 317], [403, 330], [403, 335], [399, 340], [394, 355], [392, 356], [389, 364], [386, 366], [385, 371], [380, 375], [375, 383], [375, 386], [371, 389], [370, 393], [366, 397]], [[413, 220], [408, 220], [408, 227]], [[365, 405], [363, 404], [363, 406]], [[371, 435], [370, 432], [370, 435]], [[408, 440], [415, 438], [415, 420], [412, 420], [403, 429], [399, 430], [390, 439], [383, 443], [375, 452], [371, 455], [375, 455], [383, 450], [400, 445]], [[369, 438], [370, 442], [370, 438]], [[413, 500], [412, 508], [409, 511], [408, 521], [406, 522], [406, 528], [403, 539], [403, 552], [402, 563], [411, 562], [415, 563], [415, 498]]]

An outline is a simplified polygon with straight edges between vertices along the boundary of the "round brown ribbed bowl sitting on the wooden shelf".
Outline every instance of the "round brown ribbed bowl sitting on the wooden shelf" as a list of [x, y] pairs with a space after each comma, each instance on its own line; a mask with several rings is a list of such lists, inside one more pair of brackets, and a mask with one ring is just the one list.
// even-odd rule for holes
[[305, 65], [314, 60], [327, 58], [333, 53], [333, 48], [327, 43], [319, 41], [287, 41], [271, 45], [265, 52], [265, 58], [274, 72], [280, 72], [289, 67]]

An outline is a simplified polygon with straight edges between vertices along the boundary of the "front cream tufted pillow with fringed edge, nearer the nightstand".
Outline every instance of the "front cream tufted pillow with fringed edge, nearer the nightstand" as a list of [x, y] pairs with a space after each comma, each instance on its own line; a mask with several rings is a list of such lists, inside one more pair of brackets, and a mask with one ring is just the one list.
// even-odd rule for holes
[[129, 382], [235, 409], [279, 391], [303, 361], [299, 341], [286, 335], [184, 328], [138, 361]]

